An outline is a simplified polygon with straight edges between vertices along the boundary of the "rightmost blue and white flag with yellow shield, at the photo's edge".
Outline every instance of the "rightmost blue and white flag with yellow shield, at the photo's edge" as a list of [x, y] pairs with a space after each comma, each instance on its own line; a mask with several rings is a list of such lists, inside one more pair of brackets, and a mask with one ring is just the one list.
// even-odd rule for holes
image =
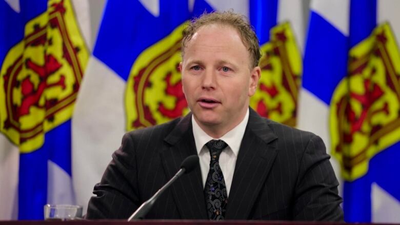
[[348, 222], [400, 221], [399, 6], [311, 4], [299, 127], [321, 134], [340, 164]]

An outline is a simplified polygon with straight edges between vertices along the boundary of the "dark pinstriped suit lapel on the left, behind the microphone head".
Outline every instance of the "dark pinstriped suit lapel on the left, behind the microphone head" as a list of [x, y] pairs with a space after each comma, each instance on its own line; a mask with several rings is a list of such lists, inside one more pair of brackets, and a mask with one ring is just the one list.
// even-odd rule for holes
[[[179, 121], [164, 140], [170, 147], [162, 151], [161, 158], [167, 177], [172, 178], [186, 157], [197, 155], [191, 114]], [[182, 219], [207, 219], [202, 183], [200, 166], [197, 166], [194, 171], [182, 175], [171, 186], [173, 198]]]

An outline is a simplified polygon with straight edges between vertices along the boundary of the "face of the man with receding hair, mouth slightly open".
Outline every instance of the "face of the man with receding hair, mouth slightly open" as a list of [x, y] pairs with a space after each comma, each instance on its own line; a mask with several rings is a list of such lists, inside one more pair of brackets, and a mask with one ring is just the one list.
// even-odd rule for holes
[[250, 63], [241, 36], [230, 26], [201, 27], [187, 43], [181, 63], [183, 90], [199, 126], [218, 131], [214, 138], [233, 129], [246, 114], [260, 75], [259, 67], [250, 69]]

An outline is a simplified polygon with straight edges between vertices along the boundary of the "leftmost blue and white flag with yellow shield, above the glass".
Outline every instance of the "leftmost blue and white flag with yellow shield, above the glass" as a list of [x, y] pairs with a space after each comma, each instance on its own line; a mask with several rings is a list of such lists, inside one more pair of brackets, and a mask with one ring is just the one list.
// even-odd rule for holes
[[44, 204], [75, 203], [70, 118], [88, 50], [68, 0], [0, 1], [0, 12], [2, 217], [43, 219]]

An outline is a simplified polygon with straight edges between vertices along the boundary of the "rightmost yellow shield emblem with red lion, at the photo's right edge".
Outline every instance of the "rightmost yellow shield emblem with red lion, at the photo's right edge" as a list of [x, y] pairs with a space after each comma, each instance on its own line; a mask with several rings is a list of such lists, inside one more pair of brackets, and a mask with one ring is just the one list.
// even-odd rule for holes
[[400, 140], [400, 54], [389, 24], [349, 51], [348, 68], [333, 93], [330, 130], [332, 155], [351, 181], [367, 173], [375, 154]]

